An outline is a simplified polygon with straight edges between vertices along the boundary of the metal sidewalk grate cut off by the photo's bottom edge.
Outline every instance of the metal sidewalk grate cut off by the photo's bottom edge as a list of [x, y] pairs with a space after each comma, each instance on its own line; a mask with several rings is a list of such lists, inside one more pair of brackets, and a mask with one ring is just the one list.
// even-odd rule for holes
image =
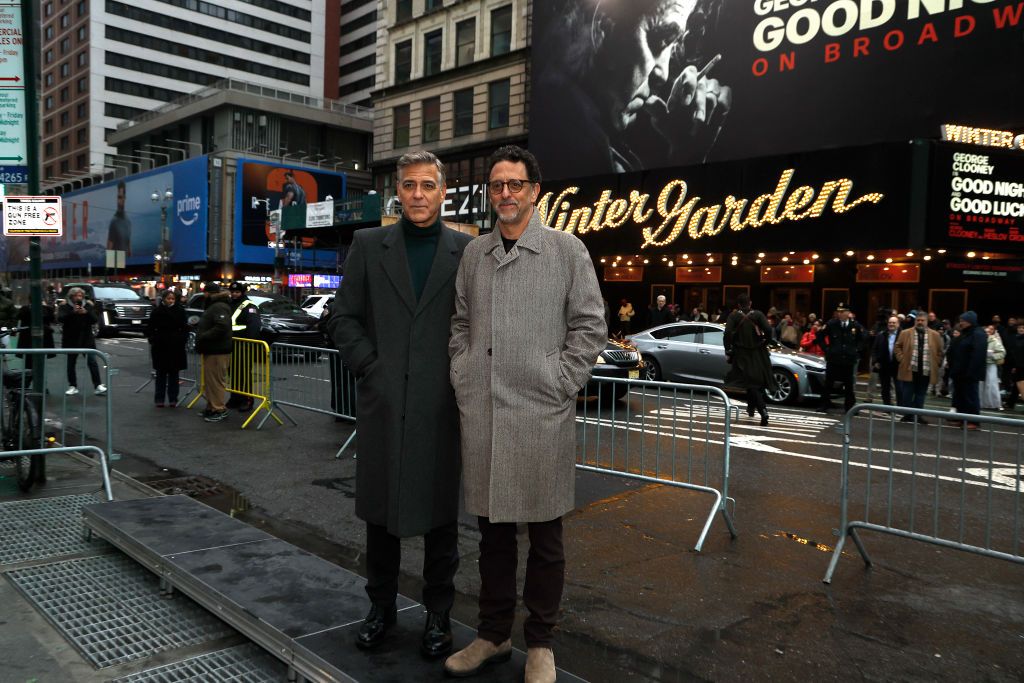
[[111, 683], [279, 683], [287, 675], [284, 664], [249, 643], [150, 669]]

